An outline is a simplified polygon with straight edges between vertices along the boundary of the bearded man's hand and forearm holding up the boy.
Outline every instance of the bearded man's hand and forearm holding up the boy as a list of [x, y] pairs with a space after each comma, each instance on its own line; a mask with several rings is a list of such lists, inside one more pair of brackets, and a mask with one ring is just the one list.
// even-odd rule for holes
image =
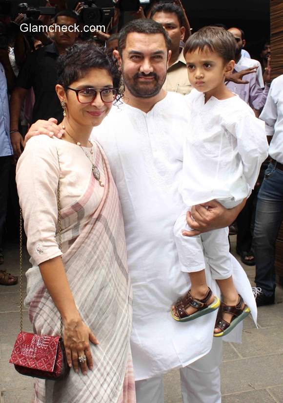
[[246, 199], [234, 208], [227, 209], [216, 200], [197, 204], [191, 211], [187, 212], [187, 223], [192, 231], [183, 231], [182, 234], [187, 237], [199, 235], [202, 232], [213, 229], [224, 228], [231, 225], [237, 218], [245, 205]]

